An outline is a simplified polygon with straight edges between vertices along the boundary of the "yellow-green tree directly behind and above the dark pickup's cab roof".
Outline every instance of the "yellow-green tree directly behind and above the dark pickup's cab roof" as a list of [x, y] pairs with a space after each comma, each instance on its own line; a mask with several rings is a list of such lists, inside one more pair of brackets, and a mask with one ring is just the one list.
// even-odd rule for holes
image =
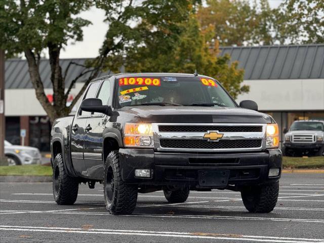
[[184, 30], [179, 38], [165, 43], [159, 36], [151, 36], [143, 47], [128, 52], [125, 62], [129, 72], [185, 72], [199, 73], [218, 79], [233, 98], [249, 91], [248, 86], [241, 86], [244, 70], [237, 69], [237, 62], [228, 64], [230, 57], [218, 57], [218, 44], [211, 46], [195, 14], [181, 26]]

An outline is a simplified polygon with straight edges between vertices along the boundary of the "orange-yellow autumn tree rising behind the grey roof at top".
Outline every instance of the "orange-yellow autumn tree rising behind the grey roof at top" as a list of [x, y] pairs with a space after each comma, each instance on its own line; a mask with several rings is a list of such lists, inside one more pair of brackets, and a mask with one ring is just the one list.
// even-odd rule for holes
[[221, 46], [271, 45], [273, 12], [267, 0], [207, 0], [198, 9], [201, 28]]

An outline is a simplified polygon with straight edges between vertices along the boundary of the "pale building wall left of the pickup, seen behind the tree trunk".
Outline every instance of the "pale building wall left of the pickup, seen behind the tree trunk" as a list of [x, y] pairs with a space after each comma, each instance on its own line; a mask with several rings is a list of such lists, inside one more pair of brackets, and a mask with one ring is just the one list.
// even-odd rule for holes
[[[82, 88], [82, 83], [75, 84], [70, 94], [76, 96]], [[45, 93], [53, 94], [52, 89]], [[80, 100], [79, 100], [80, 101]], [[78, 107], [79, 101], [75, 107]], [[38, 102], [34, 89], [6, 89], [5, 90], [5, 115], [6, 116], [38, 116], [46, 115], [42, 105]]]

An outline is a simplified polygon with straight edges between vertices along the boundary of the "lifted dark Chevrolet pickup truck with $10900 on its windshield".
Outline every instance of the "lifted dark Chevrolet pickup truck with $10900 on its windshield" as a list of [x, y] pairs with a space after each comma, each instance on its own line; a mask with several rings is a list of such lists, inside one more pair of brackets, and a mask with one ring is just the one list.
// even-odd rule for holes
[[250, 212], [275, 207], [282, 155], [278, 126], [253, 101], [239, 105], [212, 77], [121, 73], [93, 80], [74, 116], [51, 132], [53, 193], [73, 204], [79, 183], [104, 187], [111, 214], [131, 214], [137, 194], [240, 191]]

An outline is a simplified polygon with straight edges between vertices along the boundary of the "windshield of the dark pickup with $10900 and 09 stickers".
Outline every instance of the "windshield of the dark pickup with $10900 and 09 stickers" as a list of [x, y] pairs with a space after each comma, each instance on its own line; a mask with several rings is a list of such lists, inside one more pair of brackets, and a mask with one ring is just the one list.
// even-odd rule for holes
[[118, 79], [118, 103], [123, 106], [236, 107], [215, 79], [198, 77], [123, 77]]

